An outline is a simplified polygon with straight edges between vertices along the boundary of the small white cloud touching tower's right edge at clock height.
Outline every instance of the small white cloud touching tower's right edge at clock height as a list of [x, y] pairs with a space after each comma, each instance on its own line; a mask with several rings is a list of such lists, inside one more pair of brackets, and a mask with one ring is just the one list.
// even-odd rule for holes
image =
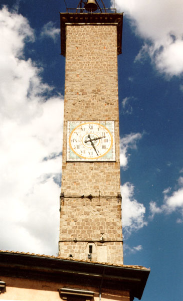
[[129, 154], [127, 153], [128, 148], [136, 149], [136, 143], [142, 138], [140, 133], [130, 133], [120, 139], [120, 166], [123, 169], [127, 168]]

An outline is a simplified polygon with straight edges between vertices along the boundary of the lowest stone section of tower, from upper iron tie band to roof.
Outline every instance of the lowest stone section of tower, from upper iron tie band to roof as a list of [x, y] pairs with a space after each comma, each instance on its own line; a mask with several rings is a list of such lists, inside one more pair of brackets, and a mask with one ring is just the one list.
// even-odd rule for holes
[[60, 254], [63, 257], [121, 264], [119, 198], [61, 198]]

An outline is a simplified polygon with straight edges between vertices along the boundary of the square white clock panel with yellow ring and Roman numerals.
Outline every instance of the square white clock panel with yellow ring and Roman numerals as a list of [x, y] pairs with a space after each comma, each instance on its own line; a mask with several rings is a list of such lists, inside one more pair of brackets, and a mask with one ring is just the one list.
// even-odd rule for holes
[[67, 161], [115, 161], [114, 121], [68, 121]]

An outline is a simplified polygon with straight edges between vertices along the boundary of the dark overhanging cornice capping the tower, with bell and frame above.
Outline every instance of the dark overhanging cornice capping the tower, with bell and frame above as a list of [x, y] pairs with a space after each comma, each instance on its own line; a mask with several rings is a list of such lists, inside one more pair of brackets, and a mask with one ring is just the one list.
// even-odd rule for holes
[[117, 28], [117, 54], [121, 54], [123, 13], [116, 9], [99, 7], [96, 0], [81, 0], [77, 8], [66, 8], [66, 13], [60, 13], [61, 26], [61, 55], [66, 56], [66, 27], [67, 25], [114, 25]]

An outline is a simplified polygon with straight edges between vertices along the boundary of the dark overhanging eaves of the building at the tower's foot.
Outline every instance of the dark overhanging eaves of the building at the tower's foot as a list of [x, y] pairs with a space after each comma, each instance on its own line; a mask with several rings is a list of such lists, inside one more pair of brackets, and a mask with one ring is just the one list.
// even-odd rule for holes
[[0, 270], [1, 277], [129, 290], [131, 296], [139, 299], [150, 272], [150, 269], [137, 266], [116, 266], [6, 251], [0, 251]]

